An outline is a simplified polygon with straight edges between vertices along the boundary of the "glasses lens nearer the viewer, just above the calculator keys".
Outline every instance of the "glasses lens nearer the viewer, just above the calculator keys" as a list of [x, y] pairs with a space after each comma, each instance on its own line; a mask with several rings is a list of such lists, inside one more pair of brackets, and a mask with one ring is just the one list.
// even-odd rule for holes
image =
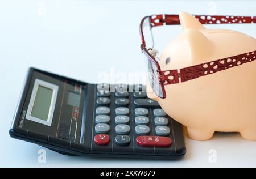
[[163, 98], [163, 87], [159, 83], [159, 75], [158, 75], [158, 67], [155, 65], [151, 59], [147, 59], [148, 61], [148, 81], [152, 87], [152, 90], [155, 94], [161, 98]]

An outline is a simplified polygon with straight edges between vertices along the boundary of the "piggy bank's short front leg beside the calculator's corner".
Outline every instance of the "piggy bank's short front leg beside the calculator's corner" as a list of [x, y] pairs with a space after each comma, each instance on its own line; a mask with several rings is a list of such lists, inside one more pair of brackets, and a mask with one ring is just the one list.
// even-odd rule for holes
[[209, 129], [188, 129], [188, 136], [193, 140], [209, 140], [213, 137], [214, 131]]

